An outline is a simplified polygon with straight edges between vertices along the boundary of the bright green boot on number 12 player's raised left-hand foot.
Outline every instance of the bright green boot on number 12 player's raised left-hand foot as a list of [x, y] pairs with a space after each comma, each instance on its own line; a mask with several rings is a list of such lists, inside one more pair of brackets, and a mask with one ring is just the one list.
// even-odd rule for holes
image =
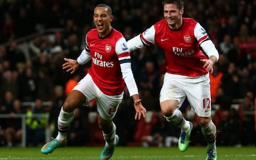
[[193, 124], [191, 122], [189, 122], [189, 124], [190, 124], [190, 129], [188, 130], [188, 133], [182, 131], [180, 134], [179, 145], [178, 145], [180, 151], [185, 151], [188, 148], [190, 133], [193, 130]]

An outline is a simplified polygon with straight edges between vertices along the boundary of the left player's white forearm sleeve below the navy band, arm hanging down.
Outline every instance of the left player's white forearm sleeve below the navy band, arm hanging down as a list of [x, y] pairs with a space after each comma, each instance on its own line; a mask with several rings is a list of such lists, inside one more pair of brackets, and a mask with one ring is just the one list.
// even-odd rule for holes
[[127, 86], [127, 89], [130, 93], [130, 97], [134, 94], [139, 94], [137, 85], [135, 83], [135, 79], [133, 77], [132, 69], [131, 69], [131, 63], [121, 63], [121, 71], [123, 74], [124, 82]]

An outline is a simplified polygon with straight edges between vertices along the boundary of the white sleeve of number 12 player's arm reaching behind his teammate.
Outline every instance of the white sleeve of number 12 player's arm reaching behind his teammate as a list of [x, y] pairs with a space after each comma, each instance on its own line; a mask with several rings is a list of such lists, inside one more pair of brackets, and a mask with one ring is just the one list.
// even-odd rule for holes
[[133, 37], [127, 41], [127, 47], [130, 52], [141, 49], [144, 46], [155, 44], [155, 27], [151, 26], [147, 30], [143, 31], [142, 34]]

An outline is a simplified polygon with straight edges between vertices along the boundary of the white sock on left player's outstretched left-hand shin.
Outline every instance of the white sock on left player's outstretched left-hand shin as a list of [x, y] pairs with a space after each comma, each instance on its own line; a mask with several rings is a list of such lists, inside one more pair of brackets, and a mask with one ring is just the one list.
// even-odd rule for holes
[[67, 112], [63, 110], [63, 107], [60, 110], [60, 114], [58, 117], [58, 135], [57, 140], [63, 141], [67, 138], [67, 133], [69, 130], [70, 123], [74, 119], [74, 111]]

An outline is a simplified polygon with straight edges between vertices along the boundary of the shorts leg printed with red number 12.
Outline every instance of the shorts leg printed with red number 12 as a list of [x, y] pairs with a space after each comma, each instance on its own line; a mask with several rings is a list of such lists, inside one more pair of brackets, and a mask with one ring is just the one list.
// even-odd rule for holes
[[189, 81], [185, 90], [191, 110], [200, 117], [211, 116], [210, 79], [207, 75]]

